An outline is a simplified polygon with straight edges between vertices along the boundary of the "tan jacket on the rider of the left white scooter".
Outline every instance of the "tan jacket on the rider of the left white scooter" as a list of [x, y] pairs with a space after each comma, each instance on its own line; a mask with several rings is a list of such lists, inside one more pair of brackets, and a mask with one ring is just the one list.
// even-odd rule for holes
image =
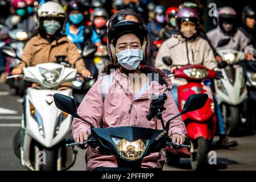
[[[80, 54], [75, 46], [66, 36], [62, 36], [53, 42], [48, 42], [40, 34], [31, 38], [23, 49], [21, 59], [27, 63], [29, 67], [33, 67], [41, 63], [53, 63], [56, 61], [55, 56], [66, 56], [67, 61], [73, 63], [79, 59]], [[18, 68], [25, 66], [20, 61]], [[84, 61], [80, 59], [76, 62], [77, 72], [85, 69]]]

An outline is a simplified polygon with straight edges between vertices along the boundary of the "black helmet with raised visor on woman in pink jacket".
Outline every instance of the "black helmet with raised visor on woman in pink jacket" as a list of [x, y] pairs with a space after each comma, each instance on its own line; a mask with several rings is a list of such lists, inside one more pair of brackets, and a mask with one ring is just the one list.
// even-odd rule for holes
[[[134, 20], [127, 20], [126, 16], [134, 16]], [[149, 38], [148, 31], [144, 20], [140, 15], [133, 10], [119, 10], [110, 18], [108, 23], [108, 52], [110, 60], [114, 65], [117, 65], [117, 56], [115, 55], [114, 42], [125, 34], [135, 34], [142, 40], [143, 60], [141, 64], [145, 64], [149, 53]]]

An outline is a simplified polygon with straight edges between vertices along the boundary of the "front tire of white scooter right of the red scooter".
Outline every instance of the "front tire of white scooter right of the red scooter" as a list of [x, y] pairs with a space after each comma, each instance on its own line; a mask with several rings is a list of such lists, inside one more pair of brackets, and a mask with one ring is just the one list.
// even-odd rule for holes
[[239, 108], [236, 106], [230, 106], [230, 121], [229, 127], [227, 130], [227, 134], [229, 136], [237, 135], [239, 129], [239, 122], [240, 122], [240, 111]]

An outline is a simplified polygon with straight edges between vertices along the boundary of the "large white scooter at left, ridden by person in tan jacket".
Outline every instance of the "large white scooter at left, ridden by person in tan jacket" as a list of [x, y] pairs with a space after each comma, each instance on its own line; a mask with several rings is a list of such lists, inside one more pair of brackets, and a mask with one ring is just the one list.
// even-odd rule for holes
[[[2, 52], [17, 58], [15, 49], [4, 47]], [[22, 60], [21, 60], [22, 61]], [[24, 67], [23, 80], [38, 84], [42, 89], [28, 88], [24, 100], [22, 129], [14, 138], [14, 150], [23, 166], [31, 170], [65, 170], [76, 160], [74, 148], [65, 148], [65, 138], [71, 135], [72, 116], [57, 109], [55, 93], [72, 96], [72, 89], [57, 90], [64, 82], [75, 80], [76, 69], [57, 63]]]

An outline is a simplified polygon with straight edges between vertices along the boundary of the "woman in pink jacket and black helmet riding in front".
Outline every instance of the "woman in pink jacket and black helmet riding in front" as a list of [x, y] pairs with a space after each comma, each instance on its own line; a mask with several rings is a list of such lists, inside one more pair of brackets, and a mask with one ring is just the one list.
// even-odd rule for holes
[[[137, 20], [126, 20], [134, 15]], [[92, 86], [77, 110], [82, 118], [94, 127], [140, 126], [162, 129], [159, 121], [146, 115], [152, 94], [167, 94], [163, 119], [179, 113], [170, 94], [171, 80], [159, 69], [143, 66], [148, 59], [148, 33], [141, 16], [131, 10], [120, 10], [108, 25], [108, 51], [113, 64], [108, 65], [105, 76]], [[72, 123], [72, 137], [76, 142], [84, 141], [90, 134], [90, 126], [80, 119]], [[171, 121], [169, 136], [172, 142], [182, 144], [186, 129], [181, 117]], [[88, 170], [97, 167], [117, 167], [114, 156], [99, 155], [88, 148], [86, 151]], [[143, 159], [143, 168], [162, 168], [162, 152], [151, 153]]]

